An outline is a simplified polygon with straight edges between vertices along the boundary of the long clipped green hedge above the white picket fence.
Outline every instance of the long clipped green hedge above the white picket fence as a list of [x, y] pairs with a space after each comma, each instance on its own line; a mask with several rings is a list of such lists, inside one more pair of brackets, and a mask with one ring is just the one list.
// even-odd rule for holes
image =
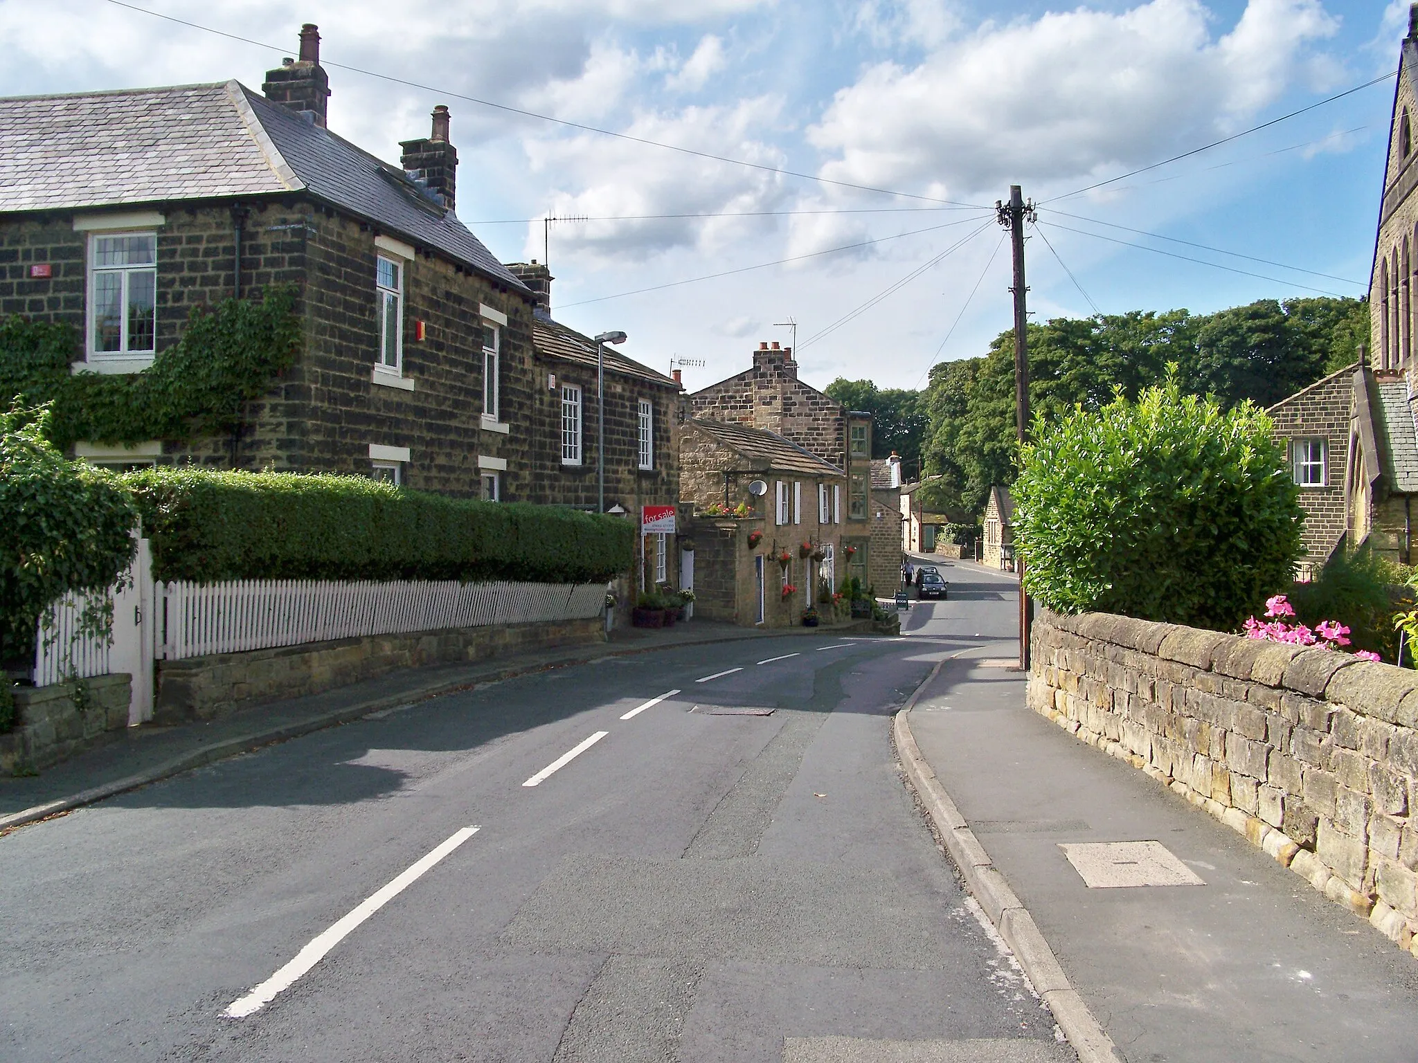
[[159, 580], [598, 583], [634, 527], [562, 506], [450, 499], [362, 476], [156, 468], [123, 478]]

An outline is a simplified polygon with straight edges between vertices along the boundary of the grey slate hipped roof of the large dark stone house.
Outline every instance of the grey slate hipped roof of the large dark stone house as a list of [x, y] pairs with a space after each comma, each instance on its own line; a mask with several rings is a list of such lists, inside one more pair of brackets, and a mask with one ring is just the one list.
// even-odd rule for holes
[[306, 191], [519, 291], [401, 169], [237, 81], [0, 98], [0, 213]]

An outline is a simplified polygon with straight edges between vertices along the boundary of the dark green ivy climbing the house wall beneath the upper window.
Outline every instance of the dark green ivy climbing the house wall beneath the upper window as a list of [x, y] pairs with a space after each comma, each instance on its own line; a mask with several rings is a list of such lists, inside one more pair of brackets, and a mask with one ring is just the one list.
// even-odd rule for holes
[[301, 350], [294, 285], [261, 302], [227, 299], [211, 312], [193, 308], [174, 344], [142, 373], [72, 373], [79, 349], [69, 325], [0, 320], [0, 407], [52, 404], [55, 446], [184, 441], [230, 431], [241, 404], [265, 393]]

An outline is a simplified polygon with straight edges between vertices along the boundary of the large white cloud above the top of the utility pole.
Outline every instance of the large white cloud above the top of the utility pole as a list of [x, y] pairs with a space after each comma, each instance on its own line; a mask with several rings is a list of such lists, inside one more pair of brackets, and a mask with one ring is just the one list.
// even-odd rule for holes
[[1153, 162], [1234, 132], [1337, 28], [1319, 0], [1251, 0], [1219, 40], [1208, 17], [1197, 0], [1078, 9], [987, 23], [912, 68], [869, 67], [810, 130], [835, 156], [822, 176], [990, 197]]

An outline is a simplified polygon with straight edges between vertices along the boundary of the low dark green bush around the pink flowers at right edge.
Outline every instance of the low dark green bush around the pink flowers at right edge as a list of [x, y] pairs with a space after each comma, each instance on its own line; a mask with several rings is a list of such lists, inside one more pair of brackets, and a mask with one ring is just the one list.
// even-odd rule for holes
[[[1312, 583], [1295, 584], [1288, 597], [1300, 624], [1313, 628], [1322, 619], [1340, 621], [1349, 625], [1351, 649], [1395, 663], [1400, 634], [1394, 617], [1414, 604], [1412, 588], [1404, 585], [1409, 571], [1364, 546], [1334, 554]], [[1409, 649], [1405, 656], [1411, 655]], [[1412, 666], [1411, 659], [1404, 663]]]

